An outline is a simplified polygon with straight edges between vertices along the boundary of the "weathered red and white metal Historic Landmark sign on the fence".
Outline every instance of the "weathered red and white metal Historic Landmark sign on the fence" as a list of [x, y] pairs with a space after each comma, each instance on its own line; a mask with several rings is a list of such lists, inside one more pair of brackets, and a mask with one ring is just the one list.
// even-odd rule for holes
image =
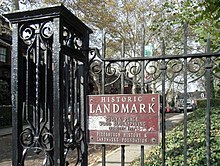
[[89, 143], [158, 144], [159, 103], [159, 94], [89, 95]]

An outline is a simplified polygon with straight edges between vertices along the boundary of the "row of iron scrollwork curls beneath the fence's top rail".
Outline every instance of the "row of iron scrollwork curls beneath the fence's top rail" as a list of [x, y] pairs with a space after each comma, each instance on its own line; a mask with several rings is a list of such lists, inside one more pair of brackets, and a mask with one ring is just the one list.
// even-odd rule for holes
[[[144, 80], [143, 86], [147, 84], [156, 84], [161, 81], [162, 71], [165, 71], [166, 81], [173, 82], [175, 84], [184, 84], [184, 77], [186, 77], [188, 83], [196, 82], [205, 76], [207, 66], [207, 57], [180, 57], [180, 58], [153, 58], [148, 60], [118, 60], [114, 63], [109, 59], [102, 61], [101, 59], [97, 61], [96, 58], [90, 61], [90, 72], [93, 74], [100, 74], [103, 70], [101, 64], [105, 64], [105, 86], [111, 85], [118, 81], [122, 74], [125, 75], [125, 79], [130, 82], [130, 84], [136, 84], [142, 86], [142, 80]], [[185, 61], [186, 60], [186, 61]], [[211, 58], [212, 64], [209, 68], [213, 68], [213, 76], [220, 78], [218, 71], [220, 71], [219, 63], [217, 63], [219, 58]], [[186, 65], [185, 65], [186, 62]], [[123, 65], [122, 65], [123, 64]], [[96, 69], [96, 70], [95, 70]], [[184, 76], [184, 71], [187, 71], [187, 75]], [[111, 79], [106, 79], [107, 77]], [[144, 78], [143, 78], [144, 77]], [[135, 79], [134, 79], [135, 78]], [[101, 79], [99, 79], [101, 81]], [[101, 83], [100, 83], [101, 84]]]

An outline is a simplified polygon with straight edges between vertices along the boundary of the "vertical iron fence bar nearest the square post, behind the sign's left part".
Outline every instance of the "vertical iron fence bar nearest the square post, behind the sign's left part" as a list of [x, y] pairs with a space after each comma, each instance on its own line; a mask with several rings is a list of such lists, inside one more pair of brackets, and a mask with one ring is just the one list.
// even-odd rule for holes
[[[102, 57], [105, 58], [106, 53], [106, 38], [105, 38], [105, 31], [102, 32]], [[105, 93], [105, 61], [102, 61], [102, 82], [101, 82], [101, 94]], [[102, 166], [105, 166], [106, 162], [106, 146], [102, 144]]]

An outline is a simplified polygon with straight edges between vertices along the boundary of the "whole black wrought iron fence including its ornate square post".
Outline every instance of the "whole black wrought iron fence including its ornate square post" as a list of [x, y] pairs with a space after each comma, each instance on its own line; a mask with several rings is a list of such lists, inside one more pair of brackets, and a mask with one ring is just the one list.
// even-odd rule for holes
[[[173, 83], [173, 87], [182, 85], [186, 165], [188, 86], [204, 76], [207, 165], [211, 165], [210, 80], [219, 78], [213, 72], [219, 67], [216, 63], [219, 53], [188, 54], [185, 34], [182, 55], [165, 56], [163, 47], [161, 56], [144, 57], [143, 40], [141, 56], [127, 58], [122, 38], [120, 56], [106, 58], [105, 38], [102, 56], [99, 56], [96, 49], [88, 48], [92, 31], [62, 5], [6, 16], [13, 26], [13, 166], [25, 165], [29, 155], [41, 159], [42, 165], [68, 165], [70, 162], [88, 165], [86, 94], [89, 90], [93, 94], [151, 93], [149, 87], [158, 82], [162, 96], [162, 165], [166, 165], [168, 82]], [[105, 145], [102, 148], [102, 165], [106, 165]], [[121, 145], [121, 165], [125, 165], [124, 152], [125, 146]], [[141, 165], [144, 165], [144, 146], [141, 146]]]

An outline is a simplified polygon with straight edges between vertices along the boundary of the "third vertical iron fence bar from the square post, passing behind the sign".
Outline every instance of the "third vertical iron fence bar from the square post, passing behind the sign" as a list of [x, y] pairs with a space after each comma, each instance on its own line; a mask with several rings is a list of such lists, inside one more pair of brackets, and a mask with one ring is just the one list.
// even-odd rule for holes
[[[144, 24], [141, 25], [141, 35], [142, 35], [142, 41], [141, 41], [141, 57], [144, 57], [144, 46], [145, 46], [145, 29]], [[144, 94], [144, 60], [141, 63], [141, 93]], [[141, 166], [144, 166], [144, 146], [141, 145]]]

